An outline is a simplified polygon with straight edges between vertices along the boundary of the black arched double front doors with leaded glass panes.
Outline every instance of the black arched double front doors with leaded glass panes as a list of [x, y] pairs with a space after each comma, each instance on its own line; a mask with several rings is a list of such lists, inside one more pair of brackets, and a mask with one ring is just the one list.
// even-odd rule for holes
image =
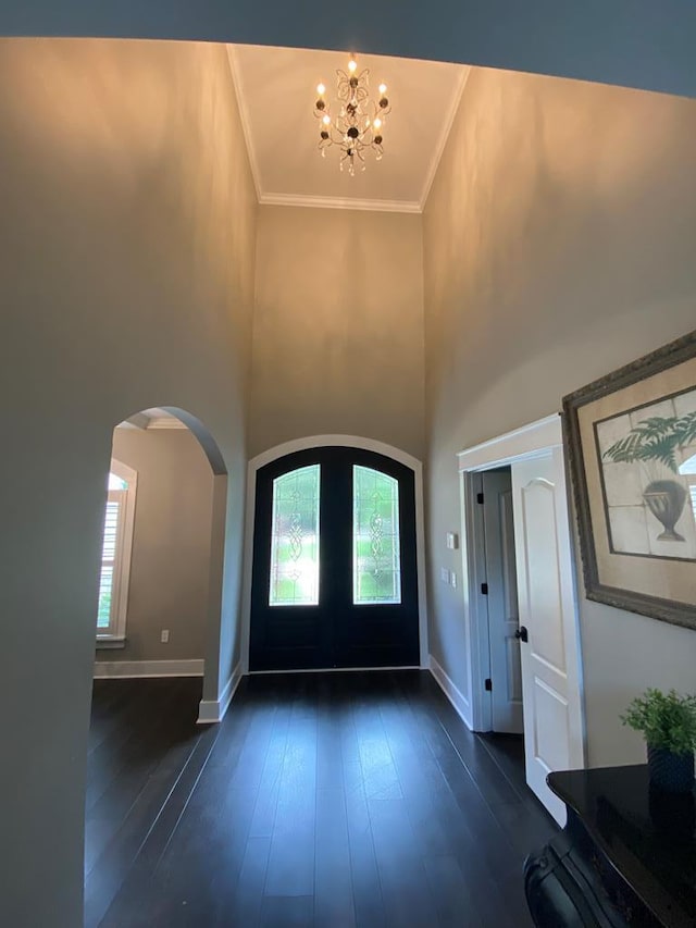
[[250, 669], [418, 664], [413, 471], [346, 447], [260, 469]]

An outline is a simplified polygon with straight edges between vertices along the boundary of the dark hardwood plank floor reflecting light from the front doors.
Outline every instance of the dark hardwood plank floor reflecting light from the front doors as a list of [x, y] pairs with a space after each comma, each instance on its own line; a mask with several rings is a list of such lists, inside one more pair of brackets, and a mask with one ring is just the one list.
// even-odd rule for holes
[[556, 826], [521, 739], [474, 735], [430, 673], [96, 681], [87, 928], [531, 920], [522, 862]]

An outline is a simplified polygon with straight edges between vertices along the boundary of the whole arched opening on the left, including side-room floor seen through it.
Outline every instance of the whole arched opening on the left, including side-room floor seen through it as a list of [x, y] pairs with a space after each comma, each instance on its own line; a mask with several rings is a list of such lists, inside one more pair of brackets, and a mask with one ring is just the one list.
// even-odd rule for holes
[[198, 722], [216, 720], [227, 508], [215, 441], [175, 407], [116, 425], [104, 484], [85, 803], [94, 924], [120, 889], [114, 853], [146, 840], [197, 763]]

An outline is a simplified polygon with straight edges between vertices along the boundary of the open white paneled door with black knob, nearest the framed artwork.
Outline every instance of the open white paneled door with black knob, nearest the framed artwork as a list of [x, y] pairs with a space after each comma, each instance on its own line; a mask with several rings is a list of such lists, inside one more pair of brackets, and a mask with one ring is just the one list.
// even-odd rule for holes
[[550, 770], [583, 766], [579, 647], [561, 448], [512, 462], [526, 780], [561, 825]]

